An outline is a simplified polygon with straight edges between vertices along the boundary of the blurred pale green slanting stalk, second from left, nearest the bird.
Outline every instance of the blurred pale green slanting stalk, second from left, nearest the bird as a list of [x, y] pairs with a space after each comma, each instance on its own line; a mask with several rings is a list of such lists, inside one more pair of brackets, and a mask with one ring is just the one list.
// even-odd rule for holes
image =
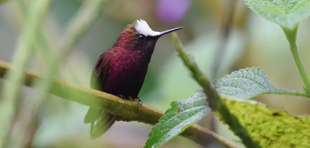
[[[35, 83], [35, 89], [37, 93], [34, 96], [30, 96], [34, 100], [30, 102], [28, 109], [24, 110], [27, 114], [28, 118], [25, 118], [24, 124], [21, 124], [22, 128], [19, 131], [17, 137], [15, 137], [14, 147], [23, 147], [23, 144], [26, 144], [24, 141], [27, 129], [31, 127], [33, 121], [36, 121], [39, 116], [39, 112], [42, 108], [42, 105], [48, 98], [48, 90], [50, 89], [53, 79], [56, 77], [59, 71], [60, 61], [66, 61], [66, 56], [71, 53], [73, 47], [78, 41], [81, 39], [82, 35], [89, 30], [91, 25], [97, 20], [97, 18], [101, 14], [101, 10], [104, 7], [105, 0], [92, 0], [92, 1], [84, 1], [83, 5], [79, 9], [79, 13], [73, 18], [70, 25], [67, 27], [67, 31], [65, 37], [63, 39], [63, 44], [60, 47], [61, 52], [65, 53], [62, 55], [53, 54], [52, 51], [48, 51], [51, 53], [51, 58], [47, 62], [47, 69], [45, 71], [45, 78], [40, 79]], [[79, 21], [83, 20], [83, 21]], [[74, 24], [74, 25], [73, 25]], [[74, 26], [74, 27], [73, 27]], [[74, 29], [72, 29], [74, 28]], [[45, 43], [47, 45], [47, 43]], [[48, 47], [49, 48], [49, 47]], [[46, 50], [46, 49], [39, 49]], [[25, 107], [26, 108], [26, 107]], [[34, 134], [34, 132], [33, 132]]]

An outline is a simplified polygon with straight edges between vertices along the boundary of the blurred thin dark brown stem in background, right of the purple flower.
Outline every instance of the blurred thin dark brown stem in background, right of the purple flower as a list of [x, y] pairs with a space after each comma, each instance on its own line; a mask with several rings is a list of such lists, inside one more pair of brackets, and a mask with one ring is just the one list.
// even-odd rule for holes
[[229, 34], [231, 32], [231, 27], [233, 23], [233, 17], [234, 17], [234, 11], [236, 7], [236, 0], [231, 0], [230, 1], [230, 10], [228, 13], [224, 13], [223, 19], [222, 19], [222, 27], [224, 28], [223, 34], [221, 36], [221, 39], [218, 43], [217, 49], [215, 50], [215, 55], [213, 57], [213, 64], [212, 64], [212, 69], [211, 71], [213, 72], [212, 80], [215, 80], [217, 78], [217, 75], [219, 73], [219, 68], [221, 66], [222, 61], [224, 60], [224, 56], [226, 53], [227, 49], [227, 43], [228, 43], [228, 38]]

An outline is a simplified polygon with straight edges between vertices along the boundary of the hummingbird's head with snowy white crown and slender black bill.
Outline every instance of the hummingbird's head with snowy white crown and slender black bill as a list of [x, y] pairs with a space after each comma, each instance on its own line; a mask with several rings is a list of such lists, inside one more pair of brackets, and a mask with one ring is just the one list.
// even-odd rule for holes
[[174, 28], [162, 32], [153, 31], [144, 20], [136, 20], [119, 34], [114, 46], [124, 47], [128, 50], [148, 51], [154, 50], [157, 39], [162, 35], [182, 29]]

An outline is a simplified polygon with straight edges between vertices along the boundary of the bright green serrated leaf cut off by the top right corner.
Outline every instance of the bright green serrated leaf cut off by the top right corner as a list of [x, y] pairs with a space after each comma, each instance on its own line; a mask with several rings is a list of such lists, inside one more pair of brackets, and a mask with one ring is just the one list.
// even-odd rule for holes
[[310, 0], [244, 0], [252, 11], [278, 25], [292, 29], [310, 16]]

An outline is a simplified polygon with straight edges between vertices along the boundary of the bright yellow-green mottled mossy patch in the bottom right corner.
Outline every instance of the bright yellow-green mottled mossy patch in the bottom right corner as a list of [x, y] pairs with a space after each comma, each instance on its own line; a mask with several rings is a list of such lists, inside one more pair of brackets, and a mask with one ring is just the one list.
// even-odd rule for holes
[[[230, 112], [246, 128], [254, 141], [264, 148], [309, 148], [310, 117], [293, 116], [264, 105], [222, 99]], [[221, 119], [218, 112], [215, 113]], [[226, 123], [225, 123], [226, 124]]]

